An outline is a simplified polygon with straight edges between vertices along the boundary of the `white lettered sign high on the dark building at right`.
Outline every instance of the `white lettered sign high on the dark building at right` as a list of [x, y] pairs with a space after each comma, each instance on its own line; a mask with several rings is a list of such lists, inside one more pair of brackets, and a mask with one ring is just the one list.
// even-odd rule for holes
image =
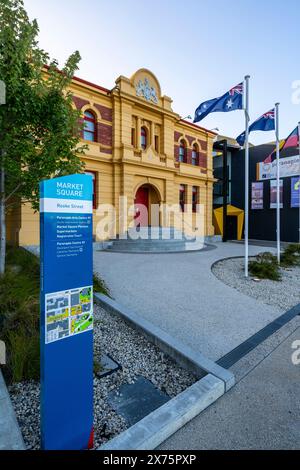
[[[300, 174], [300, 157], [284, 157], [279, 160], [280, 178], [297, 176]], [[272, 163], [257, 163], [257, 180], [276, 179], [276, 160]]]

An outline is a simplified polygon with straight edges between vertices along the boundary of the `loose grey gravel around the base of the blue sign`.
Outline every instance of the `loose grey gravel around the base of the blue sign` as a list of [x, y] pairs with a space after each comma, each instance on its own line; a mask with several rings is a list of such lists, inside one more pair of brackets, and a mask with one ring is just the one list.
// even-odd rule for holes
[[[180, 368], [156, 346], [117, 316], [94, 307], [94, 354], [109, 354], [122, 369], [98, 378], [94, 376], [95, 448], [127, 428], [125, 420], [108, 404], [107, 394], [122, 384], [131, 384], [139, 375], [149, 379], [170, 397], [195, 382], [195, 377]], [[40, 448], [40, 388], [29, 381], [9, 387], [13, 406], [28, 449]]]

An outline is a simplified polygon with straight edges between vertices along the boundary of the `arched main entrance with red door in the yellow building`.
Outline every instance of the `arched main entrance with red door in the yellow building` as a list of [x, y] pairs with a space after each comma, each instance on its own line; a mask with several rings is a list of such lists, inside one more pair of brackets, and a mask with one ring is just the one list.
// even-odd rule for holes
[[140, 186], [134, 198], [135, 225], [137, 227], [158, 227], [160, 225], [159, 204], [160, 196], [154, 186], [151, 184]]

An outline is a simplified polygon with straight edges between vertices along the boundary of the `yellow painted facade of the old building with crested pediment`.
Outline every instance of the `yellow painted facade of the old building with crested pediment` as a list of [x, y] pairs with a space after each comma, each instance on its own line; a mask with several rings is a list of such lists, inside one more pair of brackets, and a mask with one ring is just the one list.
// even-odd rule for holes
[[[191, 204], [193, 187], [198, 188], [201, 235], [213, 235], [212, 145], [215, 134], [182, 120], [172, 110], [172, 100], [162, 95], [157, 78], [147, 69], [138, 70], [131, 78], [120, 76], [112, 90], [74, 78], [71, 91], [74, 106], [82, 113], [92, 112], [97, 126], [96, 141], [83, 140], [89, 146], [83, 157], [85, 169], [95, 173], [95, 240], [102, 238], [98, 230], [98, 223], [104, 217], [99, 214], [101, 205], [115, 207], [116, 225], [112, 224], [111, 235], [118, 234], [133, 223], [133, 214], [128, 216], [127, 222], [120, 220], [120, 196], [127, 197], [128, 206], [134, 205], [136, 192], [144, 185], [149, 191], [150, 206], [151, 203], [179, 204], [180, 185], [185, 185], [185, 202]], [[145, 149], [141, 145], [142, 128], [146, 132]], [[186, 162], [178, 161], [182, 143]], [[196, 164], [191, 160], [193, 147], [198, 149]], [[172, 225], [177, 226], [175, 219]], [[164, 225], [164, 221], [160, 220], [159, 224]], [[22, 205], [9, 215], [7, 230], [11, 242], [38, 244], [38, 214], [30, 206]]]

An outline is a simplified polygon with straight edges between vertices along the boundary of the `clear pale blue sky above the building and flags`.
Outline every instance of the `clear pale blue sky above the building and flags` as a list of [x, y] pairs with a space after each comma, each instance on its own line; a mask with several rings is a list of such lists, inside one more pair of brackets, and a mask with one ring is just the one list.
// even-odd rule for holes
[[[62, 64], [78, 49], [77, 75], [107, 88], [119, 75], [149, 68], [182, 117], [251, 75], [251, 120], [281, 103], [280, 137], [300, 120], [292, 103], [299, 80], [299, 0], [25, 0], [40, 46]], [[299, 94], [300, 95], [300, 94]], [[236, 137], [242, 111], [200, 125]], [[273, 132], [255, 132], [259, 144]]]

